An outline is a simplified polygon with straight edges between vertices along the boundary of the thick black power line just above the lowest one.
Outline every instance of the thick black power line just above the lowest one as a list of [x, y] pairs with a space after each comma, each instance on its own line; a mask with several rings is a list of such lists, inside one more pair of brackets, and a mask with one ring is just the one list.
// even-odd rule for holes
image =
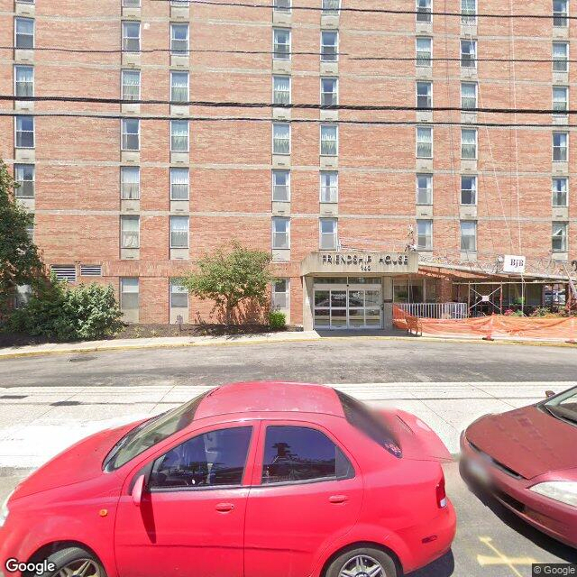
[[[265, 102], [233, 102], [233, 101], [209, 101], [209, 100], [157, 100], [136, 99], [126, 100], [122, 98], [100, 98], [90, 96], [12, 96], [0, 95], [0, 102], [75, 102], [83, 104], [102, 105], [181, 105], [198, 106], [206, 108], [283, 108], [297, 110], [350, 110], [358, 112], [463, 112], [483, 114], [577, 114], [577, 109], [563, 111], [542, 108], [463, 108], [460, 106], [383, 106], [383, 105], [316, 105], [316, 104], [274, 104]], [[23, 113], [24, 114], [24, 113]]]

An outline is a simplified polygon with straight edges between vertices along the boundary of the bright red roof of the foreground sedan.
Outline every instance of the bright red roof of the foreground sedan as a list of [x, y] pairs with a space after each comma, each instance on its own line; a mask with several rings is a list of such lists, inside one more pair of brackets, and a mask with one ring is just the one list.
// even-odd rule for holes
[[334, 389], [283, 381], [234, 382], [211, 390], [200, 402], [195, 419], [230, 413], [322, 413], [343, 417]]

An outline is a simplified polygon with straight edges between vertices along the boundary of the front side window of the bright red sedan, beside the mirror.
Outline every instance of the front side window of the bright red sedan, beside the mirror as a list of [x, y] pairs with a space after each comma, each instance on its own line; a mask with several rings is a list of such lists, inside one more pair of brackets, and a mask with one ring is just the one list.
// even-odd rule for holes
[[151, 489], [241, 485], [252, 426], [210, 431], [170, 449], [152, 465]]

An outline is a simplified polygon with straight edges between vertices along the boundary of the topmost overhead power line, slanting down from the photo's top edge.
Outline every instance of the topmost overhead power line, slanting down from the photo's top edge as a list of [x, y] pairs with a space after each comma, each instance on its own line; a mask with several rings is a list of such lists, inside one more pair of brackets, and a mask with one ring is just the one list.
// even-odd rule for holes
[[[170, 2], [171, 0], [151, 0], [152, 2]], [[185, 3], [186, 0], [185, 0]], [[239, 7], [239, 8], [268, 8], [287, 11], [286, 5], [272, 4], [258, 4], [252, 2], [214, 2], [213, 0], [188, 0], [190, 5], [209, 5], [209, 6], [224, 6], [224, 7]], [[322, 6], [299, 6], [291, 5], [290, 10], [304, 10], [309, 12], [324, 12], [330, 14], [330, 10], [325, 10]], [[463, 12], [444, 12], [444, 11], [423, 11], [423, 10], [397, 10], [394, 8], [355, 8], [353, 6], [342, 6], [334, 9], [334, 13], [338, 12], [358, 12], [365, 14], [431, 14], [433, 16], [451, 16], [455, 18], [536, 18], [540, 20], [553, 20], [554, 18], [563, 18], [563, 20], [575, 20], [577, 16], [563, 15], [563, 14], [497, 14], [497, 13], [479, 13], [469, 14]]]

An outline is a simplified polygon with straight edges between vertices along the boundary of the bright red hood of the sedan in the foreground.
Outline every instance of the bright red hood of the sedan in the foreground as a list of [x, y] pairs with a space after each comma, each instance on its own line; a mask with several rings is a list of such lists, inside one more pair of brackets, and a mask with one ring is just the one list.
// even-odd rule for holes
[[102, 475], [106, 454], [135, 425], [138, 423], [105, 429], [73, 444], [22, 481], [14, 490], [12, 499], [89, 481]]

